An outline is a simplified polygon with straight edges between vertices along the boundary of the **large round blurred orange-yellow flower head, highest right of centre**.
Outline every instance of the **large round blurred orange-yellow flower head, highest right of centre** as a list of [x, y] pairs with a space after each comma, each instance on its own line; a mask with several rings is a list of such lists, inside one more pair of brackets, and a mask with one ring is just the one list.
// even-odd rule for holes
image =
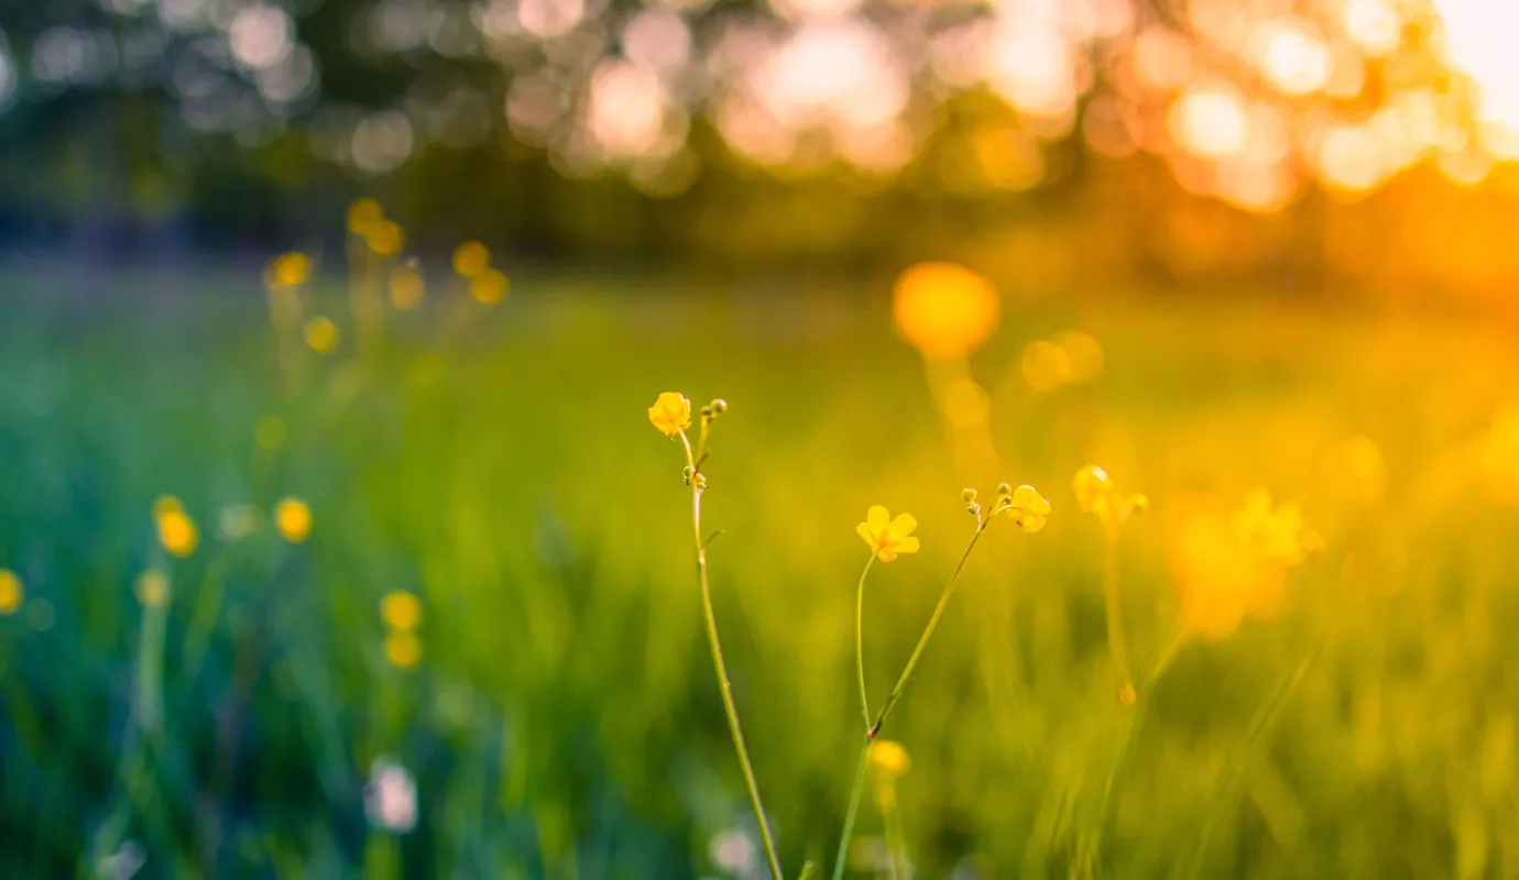
[[965, 357], [992, 335], [1001, 317], [996, 288], [952, 262], [919, 262], [892, 291], [896, 329], [924, 357]]

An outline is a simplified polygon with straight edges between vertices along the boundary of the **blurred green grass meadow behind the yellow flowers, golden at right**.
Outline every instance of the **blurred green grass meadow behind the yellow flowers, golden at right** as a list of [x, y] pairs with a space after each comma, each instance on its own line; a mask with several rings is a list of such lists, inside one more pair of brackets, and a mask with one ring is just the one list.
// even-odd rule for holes
[[[712, 587], [791, 874], [831, 860], [854, 772], [855, 523], [872, 504], [922, 523], [924, 552], [878, 566], [866, 595], [880, 706], [974, 526], [960, 489], [1003, 479], [1039, 487], [1050, 525], [987, 534], [887, 728], [913, 756], [898, 789], [917, 875], [1519, 869], [1519, 516], [1461, 452], [1519, 378], [1492, 329], [1268, 302], [1010, 303], [974, 358], [1001, 467], [974, 472], [872, 293], [529, 278], [466, 322], [439, 303], [390, 316], [368, 361], [348, 332], [284, 382], [252, 279], [94, 303], [23, 281], [38, 296], [0, 306], [0, 566], [27, 590], [0, 618], [8, 874], [88, 874], [122, 839], [152, 877], [720, 874], [712, 838], [753, 825], [684, 460], [644, 419], [665, 390], [732, 405], [705, 467], [705, 519], [725, 530]], [[317, 302], [351, 331], [340, 290]], [[1031, 393], [1021, 347], [1071, 326], [1101, 340], [1104, 376]], [[289, 438], [264, 452], [270, 414]], [[1320, 486], [1323, 454], [1355, 434], [1387, 458], [1370, 510]], [[1177, 625], [1176, 498], [1267, 486], [1328, 539], [1277, 619], [1176, 660], [1106, 816], [1133, 710], [1113, 699], [1101, 534], [1068, 489], [1089, 461], [1154, 502], [1121, 548], [1141, 671]], [[155, 549], [161, 493], [201, 525], [188, 560]], [[307, 543], [267, 523], [216, 537], [220, 508], [286, 495], [314, 511]], [[152, 564], [173, 601], [161, 733], [138, 746], [132, 581]], [[425, 605], [415, 671], [381, 649], [393, 589]], [[410, 834], [365, 819], [381, 754], [416, 775]], [[881, 828], [867, 795], [857, 850]]]

